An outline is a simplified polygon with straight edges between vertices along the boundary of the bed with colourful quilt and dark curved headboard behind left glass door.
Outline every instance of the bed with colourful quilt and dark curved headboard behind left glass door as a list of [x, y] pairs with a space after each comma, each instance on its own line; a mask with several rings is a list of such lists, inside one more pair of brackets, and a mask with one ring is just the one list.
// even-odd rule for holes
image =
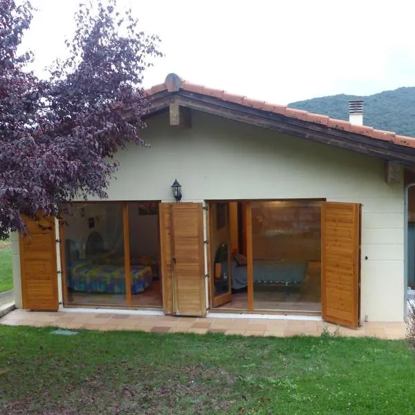
[[[86, 258], [80, 259], [80, 247], [66, 240], [66, 284], [71, 291], [83, 293], [125, 294], [124, 256], [105, 252], [102, 237], [92, 232], [86, 241]], [[151, 286], [151, 266], [131, 265], [131, 294]]]

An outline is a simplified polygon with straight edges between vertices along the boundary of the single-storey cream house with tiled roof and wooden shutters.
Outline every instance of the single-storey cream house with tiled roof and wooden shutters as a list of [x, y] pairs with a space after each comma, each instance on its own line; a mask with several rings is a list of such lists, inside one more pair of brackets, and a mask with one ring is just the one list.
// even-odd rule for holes
[[175, 74], [147, 93], [150, 147], [119, 151], [109, 198], [13, 235], [18, 307], [403, 321], [415, 138], [361, 102], [345, 122]]

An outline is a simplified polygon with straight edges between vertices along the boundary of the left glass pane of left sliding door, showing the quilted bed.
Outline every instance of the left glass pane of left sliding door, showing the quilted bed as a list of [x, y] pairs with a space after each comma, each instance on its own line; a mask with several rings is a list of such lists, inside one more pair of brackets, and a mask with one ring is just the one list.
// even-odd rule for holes
[[72, 206], [64, 226], [66, 303], [125, 306], [122, 203]]

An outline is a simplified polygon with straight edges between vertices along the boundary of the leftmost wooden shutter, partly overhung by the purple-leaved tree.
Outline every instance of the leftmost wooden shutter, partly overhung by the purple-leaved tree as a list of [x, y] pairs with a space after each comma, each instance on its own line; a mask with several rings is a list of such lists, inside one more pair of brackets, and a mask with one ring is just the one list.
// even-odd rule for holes
[[21, 297], [23, 308], [29, 310], [57, 310], [57, 262], [55, 218], [39, 223], [25, 218], [29, 230], [20, 235]]

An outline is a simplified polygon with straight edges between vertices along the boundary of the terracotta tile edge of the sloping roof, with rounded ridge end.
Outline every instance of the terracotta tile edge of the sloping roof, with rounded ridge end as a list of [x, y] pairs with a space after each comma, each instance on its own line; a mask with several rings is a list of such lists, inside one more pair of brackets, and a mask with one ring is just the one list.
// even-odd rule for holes
[[315, 124], [322, 124], [326, 127], [349, 131], [351, 133], [360, 134], [362, 136], [367, 136], [376, 140], [389, 141], [393, 142], [396, 145], [415, 148], [414, 137], [399, 136], [392, 131], [378, 130], [374, 129], [373, 127], [367, 127], [365, 125], [354, 125], [348, 121], [336, 120], [335, 118], [329, 118], [328, 116], [323, 116], [321, 114], [308, 113], [307, 111], [302, 111], [300, 109], [288, 108], [285, 105], [272, 104], [270, 102], [259, 100], [251, 100], [250, 98], [247, 98], [243, 95], [234, 95], [220, 89], [212, 89], [203, 85], [192, 84], [191, 82], [182, 80], [180, 77], [178, 77], [178, 75], [174, 73], [167, 75], [166, 80], [163, 84], [154, 85], [150, 89], [145, 90], [145, 93], [147, 96], [151, 96], [161, 91], [175, 92], [180, 90], [200, 93], [214, 98], [219, 98], [220, 100], [226, 102], [234, 102], [236, 104], [244, 105], [245, 107], [277, 113], [288, 118], [313, 122]]

